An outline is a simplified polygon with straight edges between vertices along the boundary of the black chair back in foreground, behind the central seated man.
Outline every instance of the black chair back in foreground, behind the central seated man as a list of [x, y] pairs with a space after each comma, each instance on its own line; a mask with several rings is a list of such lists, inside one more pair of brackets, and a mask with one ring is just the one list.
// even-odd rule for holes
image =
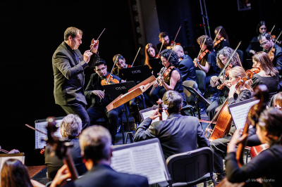
[[171, 174], [171, 180], [168, 181], [169, 186], [194, 186], [197, 183], [204, 183], [212, 180], [214, 186], [214, 153], [211, 148], [199, 148], [171, 155], [166, 159], [168, 172]]

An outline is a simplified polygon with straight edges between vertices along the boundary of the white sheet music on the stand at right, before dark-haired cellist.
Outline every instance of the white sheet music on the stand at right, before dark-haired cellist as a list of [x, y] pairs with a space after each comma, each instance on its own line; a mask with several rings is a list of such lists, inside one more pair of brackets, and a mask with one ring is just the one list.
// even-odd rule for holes
[[[236, 129], [243, 129], [247, 121], [247, 114], [250, 111], [250, 108], [259, 103], [259, 100], [252, 101], [250, 103], [244, 103], [243, 105], [238, 105], [230, 108], [230, 112], [233, 118]], [[252, 125], [250, 125], [250, 128]]]

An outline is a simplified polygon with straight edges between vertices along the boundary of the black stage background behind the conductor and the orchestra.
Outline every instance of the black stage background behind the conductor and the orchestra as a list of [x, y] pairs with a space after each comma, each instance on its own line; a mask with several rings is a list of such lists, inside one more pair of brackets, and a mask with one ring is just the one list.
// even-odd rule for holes
[[[89, 49], [92, 38], [99, 39], [99, 54], [106, 60], [108, 70], [114, 64], [112, 58], [121, 53], [128, 63], [135, 57], [135, 38], [130, 17], [129, 1], [1, 1], [1, 125], [0, 145], [5, 150], [16, 148], [26, 155], [26, 165], [43, 165], [44, 156], [35, 148], [35, 131], [25, 127], [34, 126], [35, 120], [48, 116], [66, 115], [55, 105], [54, 77], [51, 57], [63, 41], [67, 27], [82, 30], [83, 53]], [[132, 2], [132, 1], [131, 1]], [[267, 2], [267, 3], [266, 3]], [[214, 28], [226, 28], [231, 47], [242, 41], [245, 51], [260, 20], [266, 21], [269, 31], [276, 23], [273, 34], [282, 27], [281, 2], [251, 1], [251, 11], [238, 11], [237, 2], [206, 0], [211, 34]], [[185, 27], [176, 41], [183, 46], [195, 45], [204, 34], [200, 26], [199, 1], [156, 0], [160, 32], [175, 37], [179, 25], [188, 20], [189, 38]], [[150, 41], [148, 41], [150, 42]], [[85, 71], [85, 82], [94, 70]], [[86, 86], [86, 85], [85, 85]]]

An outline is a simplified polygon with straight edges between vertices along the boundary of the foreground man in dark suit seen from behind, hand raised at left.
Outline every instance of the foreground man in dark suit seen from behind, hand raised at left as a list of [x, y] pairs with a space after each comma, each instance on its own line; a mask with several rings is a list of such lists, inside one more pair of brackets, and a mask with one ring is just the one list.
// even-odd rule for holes
[[[149, 186], [145, 176], [116, 172], [110, 167], [113, 149], [111, 148], [111, 135], [106, 128], [94, 125], [82, 131], [80, 148], [88, 172], [80, 179], [66, 183], [64, 187]], [[64, 165], [50, 187], [63, 186], [70, 176], [71, 174]]]

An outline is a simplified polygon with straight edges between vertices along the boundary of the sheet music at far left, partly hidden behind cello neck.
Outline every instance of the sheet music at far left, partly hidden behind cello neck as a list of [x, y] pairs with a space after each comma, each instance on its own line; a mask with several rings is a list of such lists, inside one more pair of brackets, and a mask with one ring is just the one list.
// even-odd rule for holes
[[[59, 125], [59, 129], [57, 129], [57, 131], [55, 132], [55, 136], [62, 138], [61, 136], [61, 121], [62, 120], [56, 120], [56, 124]], [[38, 129], [39, 131], [44, 132], [45, 134], [47, 134], [47, 124], [48, 122], [39, 122], [39, 123], [35, 123], [35, 129]], [[44, 146], [46, 146], [46, 141], [42, 141], [44, 140], [44, 138], [47, 138], [47, 136], [45, 134], [40, 133], [39, 131], [35, 131], [35, 148], [44, 148]]]

